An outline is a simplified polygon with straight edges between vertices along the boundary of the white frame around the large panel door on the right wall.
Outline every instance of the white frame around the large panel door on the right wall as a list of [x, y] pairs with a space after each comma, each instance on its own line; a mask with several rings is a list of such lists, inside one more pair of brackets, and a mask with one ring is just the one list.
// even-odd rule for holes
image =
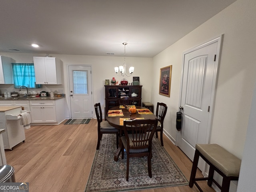
[[[206, 143], [208, 144], [209, 143], [209, 139], [210, 139], [210, 132], [211, 132], [211, 129], [212, 129], [212, 115], [213, 115], [213, 112], [214, 112], [214, 101], [215, 101], [215, 96], [216, 96], [216, 88], [217, 88], [217, 78], [218, 78], [218, 66], [219, 66], [219, 63], [220, 63], [220, 53], [221, 53], [221, 48], [222, 48], [222, 39], [223, 39], [223, 34], [221, 34], [220, 36], [217, 36], [215, 38], [213, 38], [212, 40], [209, 40], [203, 44], [200, 44], [194, 48], [191, 48], [189, 50], [186, 50], [183, 52], [182, 54], [182, 72], [181, 72], [181, 80], [180, 80], [180, 97], [179, 97], [179, 106], [178, 108], [181, 106], [181, 95], [182, 95], [182, 84], [183, 84], [183, 72], [184, 72], [184, 62], [185, 62], [185, 55], [190, 53], [190, 52], [193, 52], [195, 50], [198, 50], [198, 49], [201, 49], [203, 47], [206, 47], [210, 44], [213, 44], [213, 43], [216, 43], [217, 42], [217, 51], [216, 51], [216, 59], [215, 59], [215, 62], [216, 62], [216, 65], [215, 65], [215, 68], [214, 68], [214, 74], [213, 74], [213, 82], [212, 82], [212, 89], [211, 89], [211, 95], [210, 95], [210, 111], [209, 111], [209, 116], [208, 116], [208, 124], [207, 124], [207, 127], [206, 127]], [[183, 113], [182, 113], [183, 115]], [[176, 133], [176, 141], [175, 141], [175, 144], [176, 146], [178, 146], [178, 140], [179, 140], [179, 132], [177, 131]], [[201, 170], [203, 175], [204, 175], [204, 172], [205, 172], [205, 169], [204, 170]]]

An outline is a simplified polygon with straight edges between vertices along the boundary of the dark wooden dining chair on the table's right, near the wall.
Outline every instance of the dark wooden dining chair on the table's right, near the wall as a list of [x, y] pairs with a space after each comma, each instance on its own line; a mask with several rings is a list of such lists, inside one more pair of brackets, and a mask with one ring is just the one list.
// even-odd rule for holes
[[158, 132], [160, 132], [161, 145], [164, 146], [163, 142], [163, 130], [164, 130], [164, 117], [166, 116], [167, 106], [164, 103], [157, 103], [156, 106], [156, 117], [158, 124], [156, 128], [156, 138], [158, 138]]

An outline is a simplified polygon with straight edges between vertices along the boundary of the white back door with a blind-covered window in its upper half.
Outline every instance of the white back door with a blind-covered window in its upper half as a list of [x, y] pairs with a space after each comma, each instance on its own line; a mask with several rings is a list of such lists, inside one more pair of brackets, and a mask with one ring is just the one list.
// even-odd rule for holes
[[68, 66], [71, 118], [92, 118], [90, 66]]

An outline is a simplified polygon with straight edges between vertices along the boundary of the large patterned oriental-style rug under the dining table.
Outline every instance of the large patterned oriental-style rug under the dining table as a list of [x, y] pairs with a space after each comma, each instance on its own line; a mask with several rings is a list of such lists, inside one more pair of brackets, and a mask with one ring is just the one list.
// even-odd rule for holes
[[96, 151], [85, 192], [119, 192], [188, 185], [188, 180], [172, 158], [153, 138], [152, 178], [148, 176], [147, 157], [130, 158], [129, 181], [126, 181], [126, 153], [114, 161], [116, 135], [103, 134]]

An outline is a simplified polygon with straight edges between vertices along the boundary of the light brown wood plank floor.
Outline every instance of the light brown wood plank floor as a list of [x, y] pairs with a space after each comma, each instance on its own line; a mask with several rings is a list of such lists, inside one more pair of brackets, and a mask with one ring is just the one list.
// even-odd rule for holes
[[[96, 152], [96, 119], [85, 125], [31, 126], [25, 134], [24, 143], [5, 151], [7, 164], [15, 169], [16, 182], [29, 182], [30, 192], [84, 192]], [[166, 136], [164, 148], [189, 180], [192, 162]], [[199, 170], [197, 174], [200, 176]], [[206, 181], [200, 182], [200, 186], [205, 192], [214, 192]], [[136, 192], [198, 192], [198, 189], [180, 186]]]

